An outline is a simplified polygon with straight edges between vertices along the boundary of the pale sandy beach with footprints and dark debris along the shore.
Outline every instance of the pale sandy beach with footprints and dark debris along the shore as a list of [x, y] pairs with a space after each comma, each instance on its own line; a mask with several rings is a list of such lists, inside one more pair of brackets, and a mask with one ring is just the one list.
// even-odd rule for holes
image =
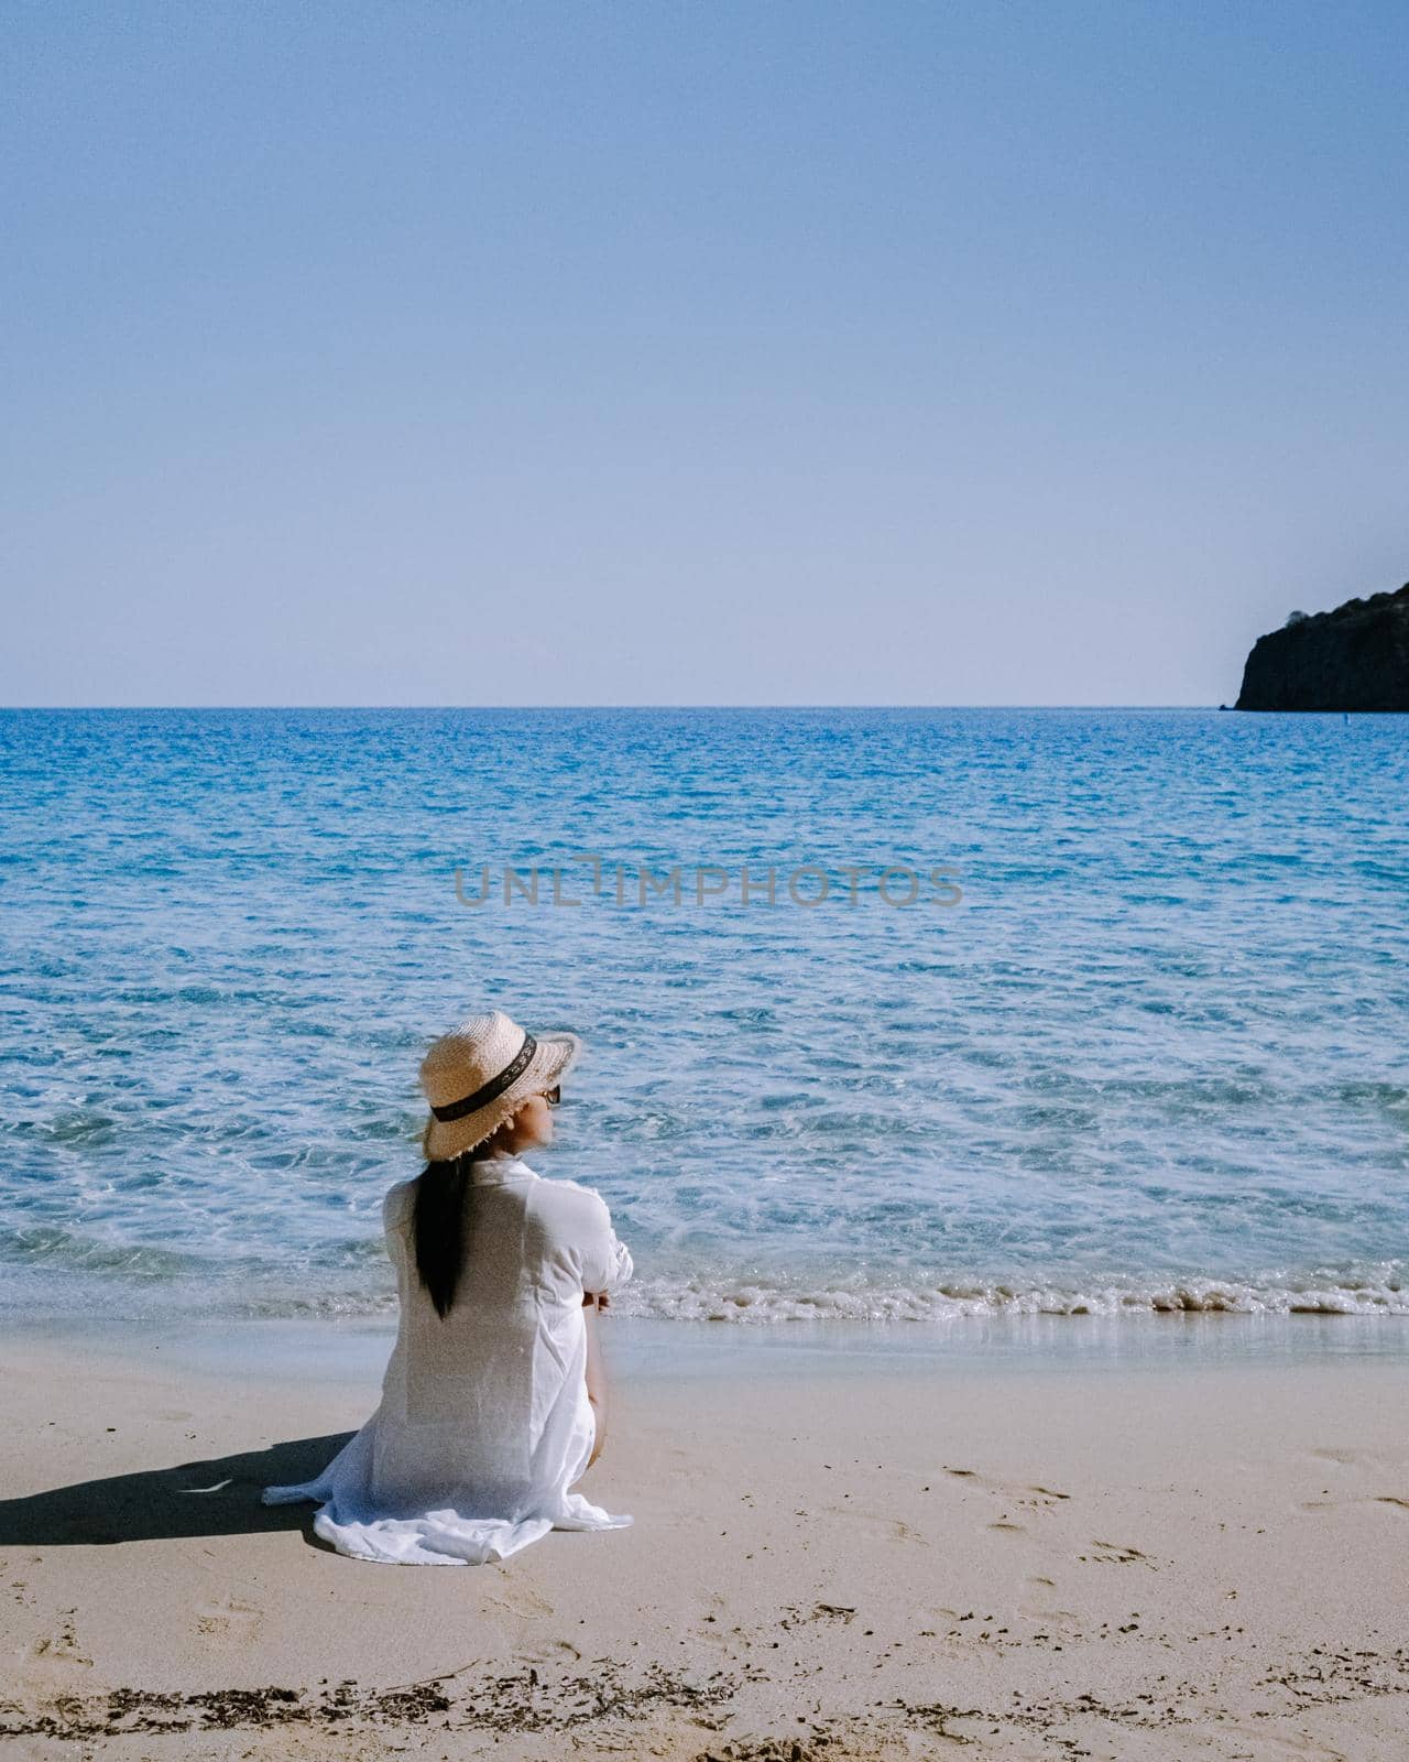
[[365, 1418], [370, 1355], [11, 1339], [9, 1751], [1404, 1755], [1402, 1357], [740, 1344], [733, 1376], [609, 1344], [631, 1376], [585, 1491], [636, 1526], [433, 1570], [257, 1499]]

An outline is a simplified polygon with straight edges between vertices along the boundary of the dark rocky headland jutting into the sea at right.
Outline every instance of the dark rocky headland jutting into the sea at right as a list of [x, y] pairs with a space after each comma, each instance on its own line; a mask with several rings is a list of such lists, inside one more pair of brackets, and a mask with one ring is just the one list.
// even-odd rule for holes
[[1409, 581], [1259, 636], [1235, 710], [1409, 710]]

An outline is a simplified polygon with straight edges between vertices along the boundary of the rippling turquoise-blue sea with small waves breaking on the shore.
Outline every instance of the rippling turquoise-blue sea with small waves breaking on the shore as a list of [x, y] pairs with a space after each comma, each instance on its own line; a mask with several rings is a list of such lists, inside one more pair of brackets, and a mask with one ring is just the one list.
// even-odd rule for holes
[[609, 1202], [625, 1313], [1409, 1314], [1407, 754], [1212, 710], [4, 712], [4, 1306], [387, 1313], [417, 1061], [497, 1004], [586, 1041], [535, 1166]]

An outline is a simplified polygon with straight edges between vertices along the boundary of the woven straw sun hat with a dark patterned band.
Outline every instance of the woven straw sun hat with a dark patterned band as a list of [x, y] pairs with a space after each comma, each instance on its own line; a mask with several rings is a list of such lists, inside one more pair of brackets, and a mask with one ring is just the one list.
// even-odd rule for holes
[[442, 1034], [421, 1061], [432, 1112], [421, 1140], [426, 1161], [451, 1161], [483, 1144], [528, 1096], [551, 1089], [579, 1052], [576, 1034], [534, 1036], [502, 1010]]

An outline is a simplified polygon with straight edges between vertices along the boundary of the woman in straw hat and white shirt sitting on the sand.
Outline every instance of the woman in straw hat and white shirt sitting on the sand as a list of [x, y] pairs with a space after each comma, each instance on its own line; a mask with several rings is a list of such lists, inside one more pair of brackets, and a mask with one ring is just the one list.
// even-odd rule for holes
[[264, 1489], [266, 1505], [319, 1501], [314, 1529], [340, 1554], [463, 1566], [631, 1522], [567, 1491], [606, 1436], [594, 1313], [631, 1255], [597, 1193], [520, 1156], [553, 1142], [578, 1052], [495, 1010], [421, 1064], [426, 1168], [382, 1202], [402, 1313], [380, 1404], [317, 1480]]

